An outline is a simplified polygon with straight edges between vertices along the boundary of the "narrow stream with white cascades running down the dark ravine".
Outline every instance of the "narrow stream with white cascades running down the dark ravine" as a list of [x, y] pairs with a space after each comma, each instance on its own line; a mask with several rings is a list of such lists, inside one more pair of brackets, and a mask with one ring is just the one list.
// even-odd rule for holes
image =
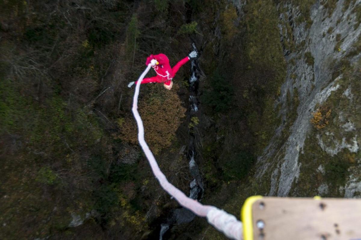
[[[195, 44], [192, 44], [193, 50], [197, 51], [197, 48]], [[197, 51], [198, 52], [198, 51]], [[198, 90], [198, 81], [199, 81], [199, 68], [197, 67], [198, 62], [197, 60], [191, 61], [191, 77], [189, 78], [188, 82], [190, 84], [189, 91], [189, 109], [188, 109], [188, 122], [190, 122], [191, 118], [195, 116], [198, 109], [198, 99], [197, 99], [197, 90]], [[204, 185], [202, 176], [200, 174], [198, 165], [197, 165], [197, 152], [195, 148], [195, 132], [191, 129], [189, 130], [189, 143], [188, 147], [186, 149], [188, 160], [189, 160], [189, 171], [193, 177], [193, 180], [190, 182], [190, 194], [189, 197], [192, 199], [201, 200], [204, 192]], [[172, 213], [169, 214], [169, 218], [165, 219], [164, 223], [160, 226], [160, 233], [159, 233], [159, 239], [163, 240], [164, 234], [173, 226], [178, 225], [182, 223], [189, 223], [191, 222], [195, 214], [192, 213], [190, 210], [186, 208], [178, 208], [174, 209]]]

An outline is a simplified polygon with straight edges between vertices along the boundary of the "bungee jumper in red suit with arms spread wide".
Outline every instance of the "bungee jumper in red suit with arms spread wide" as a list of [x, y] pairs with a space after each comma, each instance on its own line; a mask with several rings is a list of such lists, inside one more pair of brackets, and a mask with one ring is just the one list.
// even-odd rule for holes
[[[157, 55], [151, 55], [147, 57], [147, 61], [145, 62], [145, 65], [148, 66], [148, 64], [151, 62], [151, 60], [155, 59], [157, 60], [157, 64], [155, 66], [152, 66], [153, 69], [156, 71], [156, 76], [151, 78], [144, 78], [142, 81], [143, 83], [163, 83], [163, 86], [171, 90], [173, 87], [173, 81], [174, 75], [178, 72], [179, 68], [186, 64], [189, 60], [196, 58], [197, 52], [193, 51], [191, 52], [187, 57], [183, 58], [181, 61], [179, 61], [174, 67], [170, 67], [169, 65], [169, 59], [168, 57], [163, 54], [157, 54]], [[133, 86], [133, 84], [136, 84], [137, 82], [130, 82], [128, 84], [128, 87]]]

